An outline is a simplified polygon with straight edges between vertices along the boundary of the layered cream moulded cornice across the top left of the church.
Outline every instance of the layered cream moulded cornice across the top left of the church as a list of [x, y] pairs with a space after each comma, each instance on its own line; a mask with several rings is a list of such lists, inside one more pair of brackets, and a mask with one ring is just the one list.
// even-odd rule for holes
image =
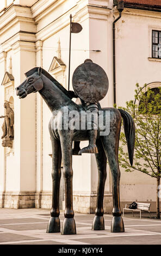
[[[5, 13], [0, 17], [0, 36], [1, 36], [1, 46], [2, 51], [8, 51], [11, 49], [11, 45], [15, 44], [16, 40], [26, 40], [26, 41], [38, 41], [46, 40], [51, 35], [57, 33], [66, 26], [69, 26], [70, 19], [69, 16], [72, 13], [73, 22], [82, 22], [85, 19], [100, 19], [107, 20], [107, 16], [110, 13], [110, 9], [107, 8], [108, 0], [84, 0], [77, 1], [69, 6], [68, 11], [65, 14], [56, 17], [54, 21], [42, 27], [40, 31], [36, 32], [36, 21], [42, 19], [51, 11], [54, 15], [54, 9], [58, 5], [62, 4], [64, 0], [54, 1], [53, 0], [42, 0], [36, 2], [32, 8], [22, 7], [20, 5], [12, 5]], [[86, 5], [90, 3], [90, 5]], [[97, 4], [97, 5], [96, 5]], [[103, 4], [103, 5], [102, 5]], [[106, 4], [106, 5], [104, 5]], [[45, 6], [44, 6], [45, 5]], [[19, 22], [18, 26], [17, 23]], [[26, 32], [21, 32], [18, 27], [21, 24], [25, 25]], [[31, 31], [32, 25], [32, 31]], [[15, 29], [13, 29], [15, 27]], [[11, 34], [9, 32], [11, 31]], [[6, 33], [5, 33], [6, 32]], [[9, 33], [8, 33], [9, 32]], [[28, 33], [25, 35], [25, 33]], [[30, 34], [31, 33], [31, 34]], [[9, 37], [10, 36], [10, 37]]]

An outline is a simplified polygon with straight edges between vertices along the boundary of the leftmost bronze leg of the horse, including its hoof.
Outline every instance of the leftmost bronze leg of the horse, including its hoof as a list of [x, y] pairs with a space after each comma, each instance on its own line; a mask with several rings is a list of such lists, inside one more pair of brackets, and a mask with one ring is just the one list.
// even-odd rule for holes
[[60, 142], [51, 136], [52, 141], [52, 210], [51, 218], [49, 219], [47, 226], [47, 233], [60, 232], [60, 220], [59, 220], [59, 188], [61, 178], [61, 147]]

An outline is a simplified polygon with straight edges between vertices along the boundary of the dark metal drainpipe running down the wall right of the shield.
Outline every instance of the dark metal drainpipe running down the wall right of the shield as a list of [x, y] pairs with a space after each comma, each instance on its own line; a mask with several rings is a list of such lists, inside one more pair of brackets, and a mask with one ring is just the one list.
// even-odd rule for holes
[[114, 104], [116, 103], [116, 55], [115, 55], [115, 23], [120, 20], [122, 11], [124, 9], [124, 2], [114, 0], [114, 5], [117, 2], [117, 10], [119, 11], [119, 17], [113, 22], [113, 80], [114, 80]]

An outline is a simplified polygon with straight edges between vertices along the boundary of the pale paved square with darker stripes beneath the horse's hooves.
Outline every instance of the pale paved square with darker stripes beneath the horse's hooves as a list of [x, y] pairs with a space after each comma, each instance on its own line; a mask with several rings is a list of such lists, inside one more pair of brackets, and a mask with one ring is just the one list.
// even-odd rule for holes
[[[143, 215], [123, 218], [125, 233], [110, 233], [112, 215], [104, 215], [105, 230], [92, 231], [94, 214], [75, 214], [77, 235], [47, 234], [49, 210], [0, 209], [0, 245], [161, 245], [161, 220]], [[60, 221], [64, 219], [60, 212]]]

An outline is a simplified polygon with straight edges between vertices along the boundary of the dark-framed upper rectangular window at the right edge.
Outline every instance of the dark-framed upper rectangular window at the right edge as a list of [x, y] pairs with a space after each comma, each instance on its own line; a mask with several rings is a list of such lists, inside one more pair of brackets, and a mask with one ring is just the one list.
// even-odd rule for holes
[[161, 31], [152, 31], [152, 58], [161, 59]]

